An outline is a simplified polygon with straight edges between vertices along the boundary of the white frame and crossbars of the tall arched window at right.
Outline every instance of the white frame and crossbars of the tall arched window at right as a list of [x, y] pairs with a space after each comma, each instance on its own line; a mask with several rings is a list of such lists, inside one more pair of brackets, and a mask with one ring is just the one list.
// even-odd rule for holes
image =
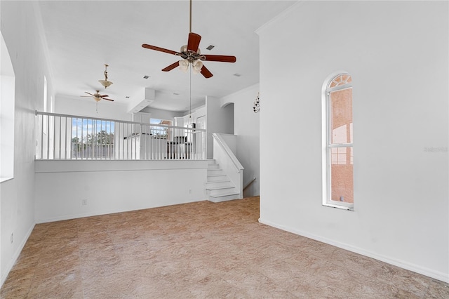
[[[335, 91], [343, 91], [349, 88], [353, 88], [352, 81], [349, 83], [345, 83], [342, 85], [337, 85], [334, 87], [329, 87], [332, 82], [340, 76], [347, 75], [351, 77], [348, 72], [336, 72], [330, 75], [326, 81], [323, 83], [323, 94], [322, 94], [322, 147], [323, 147], [323, 206], [329, 206], [332, 208], [341, 208], [347, 211], [354, 211], [354, 202], [348, 203], [344, 201], [334, 201], [331, 198], [332, 194], [332, 149], [333, 148], [350, 148], [352, 150], [352, 154], [354, 157], [354, 140], [352, 142], [344, 142], [344, 143], [332, 143], [332, 121], [330, 117], [331, 107], [330, 107], [330, 94]], [[352, 80], [352, 78], [351, 78]], [[352, 98], [351, 98], [352, 101]], [[354, 162], [353, 162], [354, 165]], [[354, 184], [354, 183], [353, 183]], [[354, 185], [353, 185], [354, 186]], [[354, 187], [353, 187], [354, 188]], [[353, 189], [354, 190], [354, 189]]]

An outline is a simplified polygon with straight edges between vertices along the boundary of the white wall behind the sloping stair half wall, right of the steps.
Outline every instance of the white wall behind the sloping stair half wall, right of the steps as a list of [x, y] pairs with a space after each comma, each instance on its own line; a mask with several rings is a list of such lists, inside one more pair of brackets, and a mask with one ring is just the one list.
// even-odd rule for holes
[[[245, 168], [243, 171], [243, 187], [250, 180], [256, 178], [243, 191], [244, 197], [253, 197], [260, 194], [259, 113], [253, 111], [257, 93], [259, 93], [259, 84], [220, 99], [221, 105], [226, 105], [229, 102], [234, 103], [234, 134], [237, 135], [235, 154]], [[276, 122], [276, 120], [273, 120], [273, 122]]]

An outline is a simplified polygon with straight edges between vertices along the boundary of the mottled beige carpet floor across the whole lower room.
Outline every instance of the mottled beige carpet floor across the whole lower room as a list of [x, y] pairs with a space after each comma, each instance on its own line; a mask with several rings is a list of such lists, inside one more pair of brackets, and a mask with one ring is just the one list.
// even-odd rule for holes
[[259, 198], [39, 224], [1, 298], [449, 298], [449, 286], [257, 222]]

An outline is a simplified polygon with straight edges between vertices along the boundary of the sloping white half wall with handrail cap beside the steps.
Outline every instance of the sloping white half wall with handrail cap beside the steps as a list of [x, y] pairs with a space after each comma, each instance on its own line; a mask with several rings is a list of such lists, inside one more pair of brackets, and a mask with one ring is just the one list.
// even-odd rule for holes
[[229, 148], [225, 138], [219, 133], [213, 133], [213, 159], [220, 164], [223, 172], [232, 181], [236, 191], [239, 192], [239, 199], [243, 198], [243, 166], [234, 152]]

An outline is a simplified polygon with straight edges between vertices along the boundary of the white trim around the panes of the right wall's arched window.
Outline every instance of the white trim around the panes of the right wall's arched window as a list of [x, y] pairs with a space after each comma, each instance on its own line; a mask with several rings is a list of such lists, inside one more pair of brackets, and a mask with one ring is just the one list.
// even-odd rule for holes
[[[340, 208], [342, 210], [354, 211], [354, 203], [347, 203], [341, 201], [333, 201], [330, 199], [330, 186], [332, 184], [330, 180], [330, 149], [333, 147], [353, 147], [353, 143], [340, 143], [330, 144], [330, 121], [328, 121], [330, 102], [329, 95], [333, 91], [340, 91], [348, 88], [352, 88], [352, 84], [344, 84], [342, 86], [335, 86], [328, 88], [330, 82], [337, 76], [342, 74], [349, 74], [348, 72], [335, 72], [330, 74], [329, 77], [323, 83], [321, 88], [321, 157], [322, 157], [322, 190], [323, 190], [323, 206], [331, 208]], [[353, 147], [354, 148], [354, 147]]]

